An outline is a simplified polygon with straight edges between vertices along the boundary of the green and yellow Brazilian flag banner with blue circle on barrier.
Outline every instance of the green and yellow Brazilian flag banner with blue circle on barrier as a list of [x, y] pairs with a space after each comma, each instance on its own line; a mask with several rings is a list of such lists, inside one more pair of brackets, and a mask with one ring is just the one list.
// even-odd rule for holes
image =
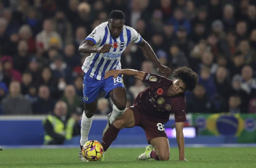
[[256, 142], [256, 114], [192, 114], [199, 135], [235, 135], [239, 143]]

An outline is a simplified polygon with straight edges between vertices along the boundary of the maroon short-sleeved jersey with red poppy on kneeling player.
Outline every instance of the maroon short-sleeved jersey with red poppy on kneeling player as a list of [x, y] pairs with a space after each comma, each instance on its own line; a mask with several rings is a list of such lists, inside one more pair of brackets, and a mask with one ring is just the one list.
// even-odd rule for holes
[[185, 94], [167, 96], [172, 80], [146, 73], [143, 82], [150, 84], [150, 86], [140, 92], [133, 101], [133, 104], [140, 108], [142, 114], [161, 123], [169, 121], [170, 113], [174, 114], [175, 122], [187, 121]]

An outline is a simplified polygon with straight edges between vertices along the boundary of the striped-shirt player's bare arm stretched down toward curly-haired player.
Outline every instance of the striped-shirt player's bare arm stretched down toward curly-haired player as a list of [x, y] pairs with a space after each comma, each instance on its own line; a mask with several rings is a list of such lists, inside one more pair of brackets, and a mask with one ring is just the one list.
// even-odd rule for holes
[[155, 66], [157, 67], [157, 71], [165, 74], [165, 77], [168, 77], [171, 73], [171, 69], [163, 64], [158, 60], [157, 56], [155, 55], [151, 46], [144, 40], [139, 43], [140, 48], [143, 51], [143, 54], [150, 58], [151, 61], [154, 62]]

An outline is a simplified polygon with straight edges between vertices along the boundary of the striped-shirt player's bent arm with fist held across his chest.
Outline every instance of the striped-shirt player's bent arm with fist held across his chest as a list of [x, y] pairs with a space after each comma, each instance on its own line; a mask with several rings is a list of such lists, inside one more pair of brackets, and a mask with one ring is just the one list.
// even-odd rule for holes
[[85, 40], [80, 46], [78, 51], [80, 53], [107, 53], [110, 51], [110, 47], [114, 47], [111, 44], [104, 44], [101, 47], [94, 47], [95, 44], [91, 40]]

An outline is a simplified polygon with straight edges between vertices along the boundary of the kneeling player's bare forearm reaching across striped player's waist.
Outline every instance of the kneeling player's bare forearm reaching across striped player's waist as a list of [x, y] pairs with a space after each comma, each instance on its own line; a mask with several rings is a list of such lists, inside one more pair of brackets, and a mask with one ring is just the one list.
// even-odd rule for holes
[[129, 75], [129, 76], [134, 76], [139, 80], [143, 80], [145, 76], [145, 72], [141, 72], [139, 70], [134, 70], [134, 69], [112, 69], [109, 70], [105, 73], [105, 79], [107, 79], [110, 76], [113, 76], [114, 78], [117, 78], [118, 75], [124, 74], [124, 75]]

